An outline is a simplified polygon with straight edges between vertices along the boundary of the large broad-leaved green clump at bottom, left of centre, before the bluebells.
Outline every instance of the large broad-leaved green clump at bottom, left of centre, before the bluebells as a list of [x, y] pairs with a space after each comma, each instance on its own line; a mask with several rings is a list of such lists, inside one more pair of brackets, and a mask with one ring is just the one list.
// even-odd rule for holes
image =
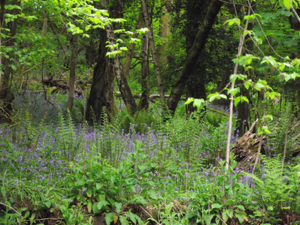
[[[70, 186], [69, 199], [75, 203], [87, 207], [88, 213], [105, 213], [106, 224], [113, 221], [120, 221], [121, 224], [128, 224], [127, 217], [136, 224], [144, 224], [138, 215], [126, 211], [129, 204], [146, 204], [146, 200], [140, 195], [134, 195], [138, 190], [139, 181], [132, 164], [135, 164], [135, 157], [141, 157], [136, 149], [136, 155], [132, 154], [115, 168], [109, 165], [100, 156], [93, 157], [89, 165], [76, 164], [73, 168], [75, 182]], [[143, 158], [140, 158], [143, 159]], [[142, 169], [141, 165], [136, 168]], [[68, 202], [69, 199], [66, 199]], [[73, 202], [72, 201], [72, 202]], [[66, 207], [70, 208], [70, 207]], [[111, 213], [109, 213], [111, 212]]]

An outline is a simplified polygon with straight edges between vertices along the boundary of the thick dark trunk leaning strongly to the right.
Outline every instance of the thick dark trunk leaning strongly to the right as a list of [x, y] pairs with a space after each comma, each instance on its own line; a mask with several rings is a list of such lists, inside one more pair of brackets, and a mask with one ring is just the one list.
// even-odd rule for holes
[[209, 35], [209, 31], [211, 30], [214, 20], [216, 19], [216, 15], [221, 9], [223, 2], [214, 0], [206, 13], [205, 19], [202, 23], [200, 30], [198, 30], [197, 35], [195, 37], [193, 46], [189, 50], [187, 54], [187, 59], [185, 60], [185, 64], [182, 68], [182, 73], [180, 77], [178, 77], [176, 84], [171, 90], [171, 96], [168, 101], [168, 107], [171, 112], [175, 112], [176, 107], [178, 105], [178, 101], [182, 95], [183, 90], [187, 84], [187, 79], [189, 75], [194, 71], [195, 62], [198, 59], [200, 53], [202, 52], [205, 41]]

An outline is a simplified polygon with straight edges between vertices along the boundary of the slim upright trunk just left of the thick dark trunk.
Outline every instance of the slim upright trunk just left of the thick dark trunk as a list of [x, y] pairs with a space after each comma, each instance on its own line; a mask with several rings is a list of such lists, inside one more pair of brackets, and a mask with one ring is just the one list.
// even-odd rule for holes
[[72, 110], [74, 104], [75, 75], [76, 75], [76, 58], [77, 58], [77, 35], [71, 39], [72, 55], [70, 61], [70, 75], [68, 80], [68, 109]]

